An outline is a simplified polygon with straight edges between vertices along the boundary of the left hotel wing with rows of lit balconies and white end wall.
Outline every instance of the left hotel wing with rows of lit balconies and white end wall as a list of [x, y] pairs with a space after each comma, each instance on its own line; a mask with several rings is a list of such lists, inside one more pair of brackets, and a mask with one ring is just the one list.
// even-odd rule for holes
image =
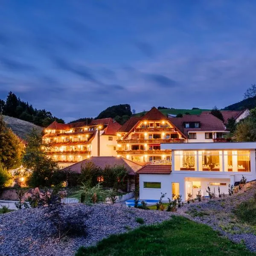
[[44, 150], [61, 168], [90, 156], [116, 156], [116, 132], [120, 127], [112, 118], [95, 119], [89, 124], [54, 121], [45, 129]]

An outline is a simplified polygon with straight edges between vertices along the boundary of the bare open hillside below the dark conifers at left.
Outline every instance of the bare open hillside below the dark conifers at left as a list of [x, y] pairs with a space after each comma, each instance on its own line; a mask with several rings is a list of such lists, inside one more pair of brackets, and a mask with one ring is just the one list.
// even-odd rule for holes
[[41, 134], [43, 131], [42, 127], [18, 118], [3, 116], [3, 120], [6, 122], [7, 127], [11, 128], [12, 131], [23, 140], [26, 140], [27, 135], [31, 133], [33, 128], [38, 132], [38, 134]]

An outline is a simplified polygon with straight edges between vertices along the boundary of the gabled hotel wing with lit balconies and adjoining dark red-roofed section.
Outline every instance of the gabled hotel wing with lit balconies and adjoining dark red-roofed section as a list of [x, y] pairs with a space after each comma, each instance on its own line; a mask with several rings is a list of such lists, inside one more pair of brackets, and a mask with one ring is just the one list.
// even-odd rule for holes
[[170, 163], [171, 149], [164, 143], [224, 142], [229, 133], [224, 123], [211, 114], [168, 118], [156, 108], [145, 116], [131, 117], [118, 131], [119, 156], [139, 163]]

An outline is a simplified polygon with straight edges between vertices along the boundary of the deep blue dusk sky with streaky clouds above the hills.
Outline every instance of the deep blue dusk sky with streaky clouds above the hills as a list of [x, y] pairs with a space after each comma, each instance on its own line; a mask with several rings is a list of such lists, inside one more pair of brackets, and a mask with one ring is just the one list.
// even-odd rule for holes
[[66, 122], [223, 108], [256, 83], [256, 1], [0, 0], [0, 99]]

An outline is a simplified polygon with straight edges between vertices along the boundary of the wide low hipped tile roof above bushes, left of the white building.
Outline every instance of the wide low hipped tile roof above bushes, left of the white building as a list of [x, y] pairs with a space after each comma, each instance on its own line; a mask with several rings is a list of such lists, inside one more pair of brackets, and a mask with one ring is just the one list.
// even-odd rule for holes
[[86, 162], [92, 162], [101, 169], [104, 169], [106, 166], [113, 167], [117, 165], [123, 165], [127, 169], [129, 175], [135, 175], [136, 172], [141, 168], [141, 165], [138, 163], [134, 163], [122, 157], [90, 157], [88, 159], [82, 160], [81, 162], [68, 166], [62, 169], [62, 171], [64, 170], [74, 173], [81, 173], [81, 169]]

